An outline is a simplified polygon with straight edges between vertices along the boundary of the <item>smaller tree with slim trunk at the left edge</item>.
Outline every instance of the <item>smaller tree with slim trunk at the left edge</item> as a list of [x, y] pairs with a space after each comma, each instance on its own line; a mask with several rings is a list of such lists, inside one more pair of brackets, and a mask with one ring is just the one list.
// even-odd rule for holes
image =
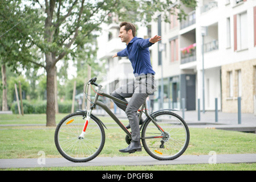
[[18, 8], [19, 6], [21, 6], [21, 1], [0, 2], [0, 65], [2, 72], [3, 110], [7, 110], [6, 67], [10, 67], [12, 71], [18, 72], [17, 69], [21, 65], [23, 68], [30, 68], [31, 65], [28, 63], [35, 59], [31, 55], [32, 45], [27, 43], [27, 38], [19, 31], [22, 27], [23, 18], [23, 11]]

